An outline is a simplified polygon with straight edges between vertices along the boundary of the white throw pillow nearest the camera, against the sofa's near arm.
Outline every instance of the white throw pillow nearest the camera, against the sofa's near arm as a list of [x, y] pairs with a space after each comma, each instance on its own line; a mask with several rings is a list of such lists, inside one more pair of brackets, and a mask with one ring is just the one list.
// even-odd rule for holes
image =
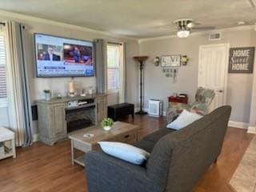
[[150, 157], [150, 154], [146, 152], [146, 150], [142, 150], [126, 143], [98, 142], [98, 144], [106, 154], [110, 154], [115, 158], [121, 158], [126, 162], [131, 162], [136, 165], [141, 165]]

